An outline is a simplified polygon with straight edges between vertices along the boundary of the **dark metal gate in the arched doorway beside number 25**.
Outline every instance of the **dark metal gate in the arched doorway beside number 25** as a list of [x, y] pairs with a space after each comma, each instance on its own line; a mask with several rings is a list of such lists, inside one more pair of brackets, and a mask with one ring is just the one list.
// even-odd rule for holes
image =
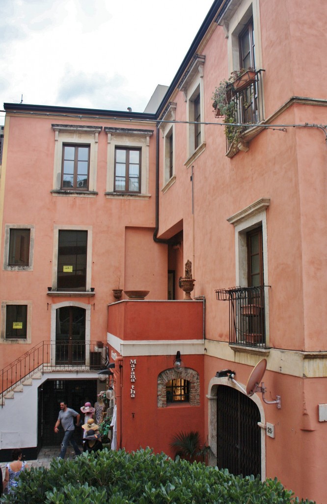
[[217, 388], [217, 466], [232, 474], [261, 475], [260, 412], [249, 397]]

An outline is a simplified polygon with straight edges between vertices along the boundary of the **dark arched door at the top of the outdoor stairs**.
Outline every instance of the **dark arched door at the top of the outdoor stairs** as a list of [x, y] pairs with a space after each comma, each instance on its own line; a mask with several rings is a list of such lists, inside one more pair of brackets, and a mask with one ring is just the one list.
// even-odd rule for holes
[[85, 327], [84, 308], [56, 309], [56, 364], [85, 364]]

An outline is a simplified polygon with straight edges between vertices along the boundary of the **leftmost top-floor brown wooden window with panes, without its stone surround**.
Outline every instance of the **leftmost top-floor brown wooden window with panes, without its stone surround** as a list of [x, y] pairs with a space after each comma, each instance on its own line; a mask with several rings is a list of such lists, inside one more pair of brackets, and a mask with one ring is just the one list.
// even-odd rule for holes
[[63, 145], [61, 188], [89, 189], [90, 145]]

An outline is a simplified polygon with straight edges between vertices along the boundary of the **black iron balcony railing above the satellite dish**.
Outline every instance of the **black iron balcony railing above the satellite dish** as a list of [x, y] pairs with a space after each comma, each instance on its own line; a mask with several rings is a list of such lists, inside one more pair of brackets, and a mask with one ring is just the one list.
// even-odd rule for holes
[[229, 344], [266, 348], [265, 286], [217, 289], [229, 301]]

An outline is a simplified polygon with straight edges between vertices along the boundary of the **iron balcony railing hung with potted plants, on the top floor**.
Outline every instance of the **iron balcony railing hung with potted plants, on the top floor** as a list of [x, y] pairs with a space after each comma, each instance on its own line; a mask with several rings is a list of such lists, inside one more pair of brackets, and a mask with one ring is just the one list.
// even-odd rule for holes
[[[264, 70], [258, 70], [255, 79], [246, 87], [232, 91], [231, 100], [235, 104], [233, 121], [239, 126], [226, 126], [231, 133], [238, 131], [241, 136], [250, 129], [247, 124], [259, 124], [264, 119], [262, 72]], [[226, 135], [226, 152], [232, 145], [232, 138], [233, 135]]]

